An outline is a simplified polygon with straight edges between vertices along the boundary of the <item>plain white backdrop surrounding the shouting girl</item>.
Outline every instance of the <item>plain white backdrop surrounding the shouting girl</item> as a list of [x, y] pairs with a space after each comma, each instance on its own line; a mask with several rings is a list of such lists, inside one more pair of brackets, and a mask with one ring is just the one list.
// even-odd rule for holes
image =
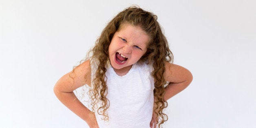
[[53, 86], [132, 4], [158, 16], [194, 77], [168, 100], [164, 128], [256, 126], [254, 0], [0, 0], [0, 127], [88, 128]]

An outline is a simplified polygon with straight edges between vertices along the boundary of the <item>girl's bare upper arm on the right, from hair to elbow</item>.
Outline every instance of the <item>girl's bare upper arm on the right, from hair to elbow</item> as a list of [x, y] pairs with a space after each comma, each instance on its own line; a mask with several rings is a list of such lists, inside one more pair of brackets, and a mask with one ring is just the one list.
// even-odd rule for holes
[[165, 62], [165, 80], [167, 82], [179, 83], [186, 80], [192, 81], [192, 73], [182, 66]]

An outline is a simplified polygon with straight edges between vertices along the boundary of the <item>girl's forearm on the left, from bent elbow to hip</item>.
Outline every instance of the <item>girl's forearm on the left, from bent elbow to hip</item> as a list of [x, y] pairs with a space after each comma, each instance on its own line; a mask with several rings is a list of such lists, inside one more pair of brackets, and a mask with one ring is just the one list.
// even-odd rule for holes
[[84, 106], [75, 96], [73, 92], [65, 93], [65, 92], [57, 92], [55, 91], [55, 95], [57, 98], [64, 104], [67, 108], [69, 108], [73, 113], [82, 118], [90, 128], [93, 126], [97, 126], [97, 120], [95, 118], [95, 114], [90, 111], [86, 106]]

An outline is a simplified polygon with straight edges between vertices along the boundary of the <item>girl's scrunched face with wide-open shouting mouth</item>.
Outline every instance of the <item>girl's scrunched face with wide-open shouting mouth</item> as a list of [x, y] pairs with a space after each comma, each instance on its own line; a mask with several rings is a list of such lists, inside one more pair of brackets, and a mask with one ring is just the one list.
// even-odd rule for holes
[[113, 35], [108, 54], [114, 70], [127, 73], [146, 53], [150, 37], [139, 26], [123, 24], [120, 27]]

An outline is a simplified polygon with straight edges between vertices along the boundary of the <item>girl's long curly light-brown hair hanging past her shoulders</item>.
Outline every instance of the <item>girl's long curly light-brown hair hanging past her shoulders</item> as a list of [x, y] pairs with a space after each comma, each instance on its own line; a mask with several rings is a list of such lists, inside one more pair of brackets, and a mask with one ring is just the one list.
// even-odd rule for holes
[[95, 77], [91, 85], [93, 88], [89, 90], [92, 109], [97, 108], [97, 103], [101, 101], [97, 113], [102, 115], [102, 119], [108, 120], [107, 109], [109, 108], [108, 86], [106, 85], [106, 64], [109, 59], [108, 48], [113, 35], [120, 29], [123, 24], [139, 26], [150, 37], [146, 53], [139, 61], [152, 64], [154, 70], [151, 75], [154, 78], [154, 113], [159, 117], [159, 127], [168, 120], [168, 116], [163, 113], [163, 109], [168, 106], [164, 100], [166, 81], [163, 77], [165, 72], [165, 62], [172, 63], [173, 55], [168, 47], [168, 41], [163, 35], [161, 27], [157, 22], [157, 16], [151, 12], [132, 6], [118, 13], [104, 28], [101, 35], [97, 39], [95, 46], [88, 54], [91, 54], [91, 60], [95, 60], [97, 69]]

